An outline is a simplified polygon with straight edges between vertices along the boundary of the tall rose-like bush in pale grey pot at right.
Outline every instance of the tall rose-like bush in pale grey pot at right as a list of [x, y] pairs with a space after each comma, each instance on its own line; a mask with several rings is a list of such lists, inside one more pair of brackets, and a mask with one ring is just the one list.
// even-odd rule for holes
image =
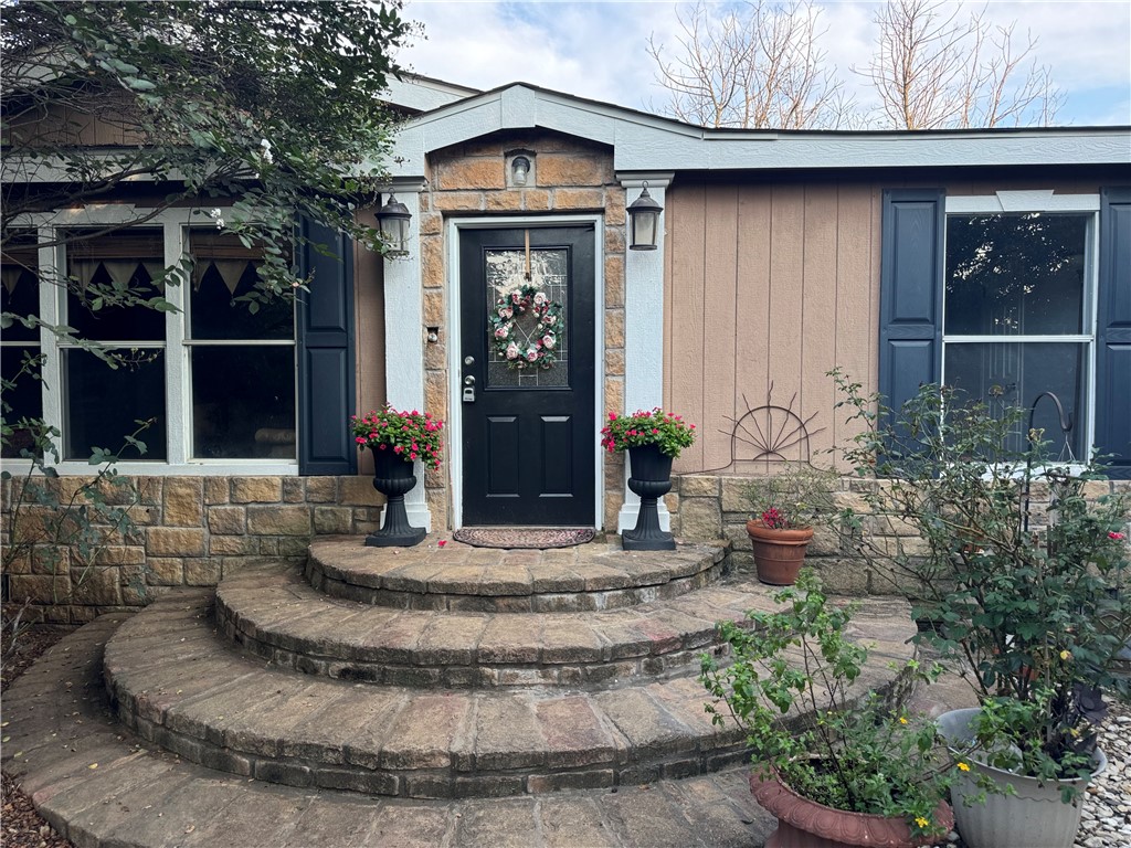
[[1129, 493], [1098, 495], [1108, 486], [1093, 462], [1048, 461], [1024, 425], [1029, 410], [926, 386], [895, 416], [837, 380], [852, 417], [869, 423], [846, 452], [874, 478], [861, 487], [867, 526], [898, 530], [864, 535], [852, 510], [845, 526], [981, 703], [940, 718], [955, 745], [976, 746], [956, 784], [959, 831], [978, 846], [1067, 848], [1104, 764], [1103, 693], [1128, 694]]

